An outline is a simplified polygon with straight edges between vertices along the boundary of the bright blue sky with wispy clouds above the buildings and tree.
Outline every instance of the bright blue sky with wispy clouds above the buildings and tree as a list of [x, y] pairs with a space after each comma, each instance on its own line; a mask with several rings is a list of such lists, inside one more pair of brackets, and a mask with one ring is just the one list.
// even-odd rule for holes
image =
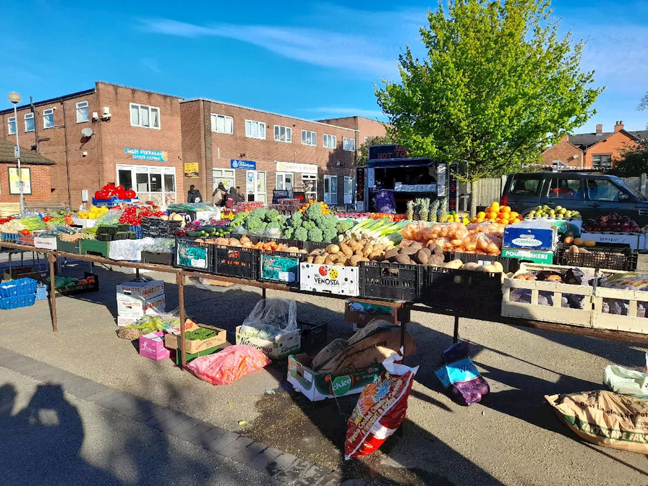
[[[395, 58], [435, 0], [400, 2], [3, 0], [0, 109], [5, 93], [55, 97], [104, 80], [296, 117], [380, 118], [373, 84], [396, 79]], [[648, 2], [555, 0], [555, 15], [588, 38], [583, 69], [607, 89], [596, 123], [643, 129]], [[15, 29], [8, 19], [14, 19]]]

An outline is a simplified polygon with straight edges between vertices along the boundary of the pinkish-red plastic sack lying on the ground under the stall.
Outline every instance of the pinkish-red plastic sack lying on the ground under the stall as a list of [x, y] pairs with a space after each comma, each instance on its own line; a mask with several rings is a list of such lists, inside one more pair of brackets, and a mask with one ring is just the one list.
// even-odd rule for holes
[[234, 345], [218, 353], [198, 356], [187, 365], [187, 369], [207, 383], [227, 385], [270, 363], [270, 358], [259, 349]]

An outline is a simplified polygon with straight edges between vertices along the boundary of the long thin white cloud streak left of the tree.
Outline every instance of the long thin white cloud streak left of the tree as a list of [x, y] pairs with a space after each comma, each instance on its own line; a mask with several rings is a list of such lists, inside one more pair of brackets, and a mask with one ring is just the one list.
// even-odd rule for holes
[[236, 39], [308, 64], [358, 71], [371, 77], [397, 74], [395, 57], [390, 58], [394, 51], [355, 34], [264, 25], [218, 24], [205, 27], [172, 19], [143, 19], [141, 22], [141, 27], [149, 32], [186, 38], [213, 36]]

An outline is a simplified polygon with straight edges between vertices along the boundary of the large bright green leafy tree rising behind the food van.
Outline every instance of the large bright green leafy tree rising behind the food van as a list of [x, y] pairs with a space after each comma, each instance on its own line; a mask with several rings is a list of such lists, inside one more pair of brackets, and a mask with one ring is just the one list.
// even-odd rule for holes
[[580, 70], [584, 41], [560, 37], [552, 12], [546, 0], [440, 3], [421, 27], [427, 58], [406, 46], [400, 82], [376, 88], [388, 135], [413, 156], [458, 162], [465, 181], [537, 163], [604, 89]]

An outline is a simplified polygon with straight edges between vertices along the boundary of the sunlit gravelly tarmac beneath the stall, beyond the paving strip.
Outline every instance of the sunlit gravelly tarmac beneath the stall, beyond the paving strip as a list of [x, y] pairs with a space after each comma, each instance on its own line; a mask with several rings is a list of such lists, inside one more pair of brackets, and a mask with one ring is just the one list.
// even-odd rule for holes
[[[84, 269], [69, 266], [67, 273]], [[441, 351], [452, 343], [453, 319], [413, 312], [408, 330], [417, 351], [408, 364], [421, 369], [408, 419], [373, 456], [344, 463], [354, 397], [311, 403], [288, 391], [284, 364], [221, 388], [182, 373], [170, 360], [142, 358], [130, 341], [115, 336], [113, 289], [128, 275], [99, 272], [98, 294], [57, 299], [56, 334], [47, 301], [2, 312], [0, 345], [376, 484], [648, 483], [645, 456], [583, 443], [544, 401], [548, 394], [600, 389], [608, 364], [641, 367], [642, 346], [461, 319], [461, 338], [472, 343], [473, 360], [491, 385], [483, 403], [465, 408], [446, 397], [434, 376]], [[166, 291], [167, 308], [176, 307], [176, 285], [167, 283]], [[286, 294], [269, 291], [273, 296]], [[343, 301], [292, 296], [299, 319], [329, 323], [329, 340], [353, 334], [343, 323]], [[187, 288], [185, 306], [198, 321], [227, 329], [233, 341], [235, 327], [259, 298], [249, 287]]]

